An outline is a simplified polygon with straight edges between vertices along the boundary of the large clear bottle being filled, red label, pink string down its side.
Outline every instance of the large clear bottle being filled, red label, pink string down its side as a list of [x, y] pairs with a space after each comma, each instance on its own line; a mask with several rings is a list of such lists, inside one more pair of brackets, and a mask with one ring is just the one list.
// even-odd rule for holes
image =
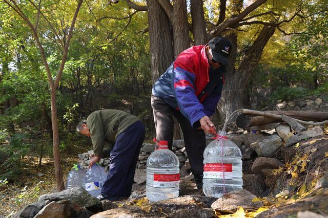
[[215, 198], [242, 189], [241, 151], [224, 133], [220, 134], [205, 148], [203, 161], [203, 192]]

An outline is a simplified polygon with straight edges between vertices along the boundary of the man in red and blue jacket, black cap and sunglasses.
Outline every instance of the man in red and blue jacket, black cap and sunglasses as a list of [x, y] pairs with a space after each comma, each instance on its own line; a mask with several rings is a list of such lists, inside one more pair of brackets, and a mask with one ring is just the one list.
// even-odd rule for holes
[[152, 90], [156, 139], [168, 141], [172, 149], [174, 116], [182, 129], [197, 188], [202, 188], [205, 133], [215, 131], [209, 117], [221, 97], [231, 51], [231, 42], [222, 36], [205, 46], [193, 46], [177, 56]]

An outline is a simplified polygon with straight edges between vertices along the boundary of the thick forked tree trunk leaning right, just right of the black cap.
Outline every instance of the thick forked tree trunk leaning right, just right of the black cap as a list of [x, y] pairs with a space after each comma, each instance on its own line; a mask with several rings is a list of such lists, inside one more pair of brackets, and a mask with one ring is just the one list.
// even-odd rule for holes
[[265, 45], [267, 45], [275, 30], [276, 27], [272, 26], [262, 28], [253, 45], [243, 55], [237, 70], [233, 68], [236, 61], [237, 36], [235, 33], [228, 36], [234, 48], [230, 58], [231, 67], [228, 68], [226, 84], [223, 86], [222, 97], [218, 104], [221, 121], [235, 110], [243, 107], [246, 84], [258, 65]]

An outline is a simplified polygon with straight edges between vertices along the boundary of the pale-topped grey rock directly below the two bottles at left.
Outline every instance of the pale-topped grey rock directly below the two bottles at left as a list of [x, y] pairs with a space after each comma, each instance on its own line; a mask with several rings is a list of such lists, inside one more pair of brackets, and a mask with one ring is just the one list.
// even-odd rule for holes
[[79, 207], [90, 208], [91, 211], [101, 208], [101, 202], [90, 195], [86, 189], [82, 187], [69, 188], [64, 191], [43, 194], [40, 196], [39, 201], [60, 201], [67, 200], [77, 204]]

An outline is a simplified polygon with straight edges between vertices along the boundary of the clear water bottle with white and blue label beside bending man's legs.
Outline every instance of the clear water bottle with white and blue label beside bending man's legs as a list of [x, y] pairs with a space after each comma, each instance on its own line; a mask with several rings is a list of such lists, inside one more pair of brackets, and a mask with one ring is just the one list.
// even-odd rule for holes
[[93, 164], [86, 171], [86, 190], [94, 197], [101, 194], [101, 188], [106, 181], [107, 173], [105, 169], [98, 164]]

